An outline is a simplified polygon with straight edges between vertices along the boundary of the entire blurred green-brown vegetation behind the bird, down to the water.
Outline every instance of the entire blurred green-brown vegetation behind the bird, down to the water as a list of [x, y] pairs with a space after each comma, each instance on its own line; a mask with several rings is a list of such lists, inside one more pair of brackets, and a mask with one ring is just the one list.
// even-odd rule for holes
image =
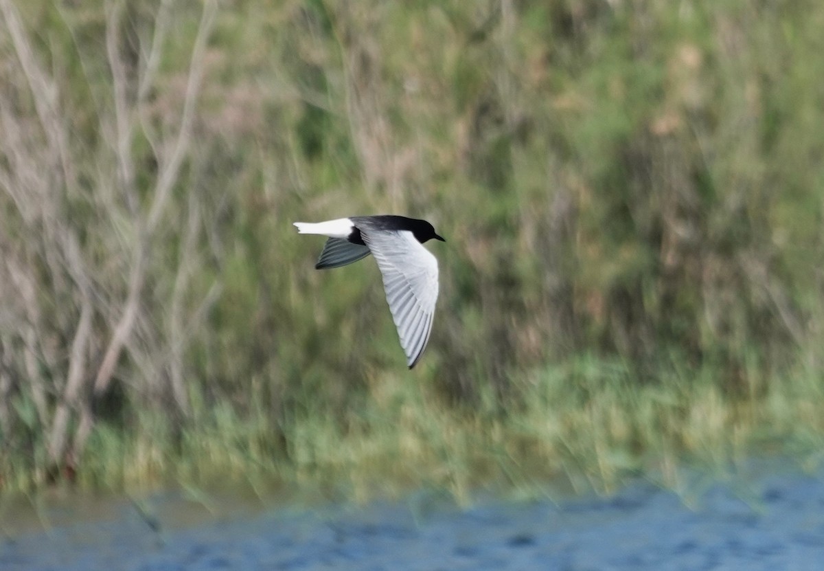
[[[0, 488], [824, 450], [824, 5], [0, 0]], [[371, 259], [430, 220], [404, 366]], [[573, 479], [574, 479], [573, 478]]]

